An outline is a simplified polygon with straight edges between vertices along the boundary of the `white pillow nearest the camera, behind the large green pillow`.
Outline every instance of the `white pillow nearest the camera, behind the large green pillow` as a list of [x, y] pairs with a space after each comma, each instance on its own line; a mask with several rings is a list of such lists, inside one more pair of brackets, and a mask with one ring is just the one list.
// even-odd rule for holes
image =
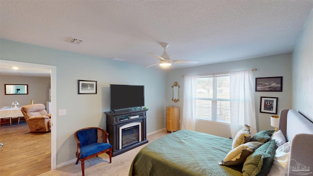
[[267, 176], [285, 176], [288, 172], [290, 142], [278, 147], [275, 151], [273, 165]]

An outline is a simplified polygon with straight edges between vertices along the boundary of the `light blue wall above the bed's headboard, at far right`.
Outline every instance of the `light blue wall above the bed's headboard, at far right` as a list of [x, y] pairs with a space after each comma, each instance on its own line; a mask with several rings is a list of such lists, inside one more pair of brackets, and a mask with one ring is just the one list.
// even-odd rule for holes
[[313, 11], [292, 53], [292, 108], [313, 121]]

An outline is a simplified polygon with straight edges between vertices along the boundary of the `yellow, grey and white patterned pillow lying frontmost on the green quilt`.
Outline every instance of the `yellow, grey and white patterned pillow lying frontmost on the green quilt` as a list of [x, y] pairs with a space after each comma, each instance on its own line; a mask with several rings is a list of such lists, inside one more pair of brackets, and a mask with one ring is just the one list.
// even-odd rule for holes
[[253, 141], [247, 142], [245, 144], [241, 144], [240, 146], [236, 147], [235, 149], [231, 150], [224, 160], [220, 162], [220, 165], [224, 166], [236, 166], [244, 164], [246, 157], [254, 152], [257, 148], [259, 148], [264, 143]]

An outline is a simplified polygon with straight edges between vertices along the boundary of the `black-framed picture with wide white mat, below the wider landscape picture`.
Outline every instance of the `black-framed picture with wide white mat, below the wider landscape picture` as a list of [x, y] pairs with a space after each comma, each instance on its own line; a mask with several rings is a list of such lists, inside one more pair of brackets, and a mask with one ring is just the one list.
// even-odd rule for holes
[[277, 97], [261, 97], [260, 112], [277, 114]]

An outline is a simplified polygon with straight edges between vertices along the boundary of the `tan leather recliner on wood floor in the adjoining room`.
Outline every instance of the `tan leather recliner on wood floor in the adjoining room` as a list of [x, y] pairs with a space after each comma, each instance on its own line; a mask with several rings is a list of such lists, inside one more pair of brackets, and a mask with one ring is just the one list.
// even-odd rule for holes
[[51, 114], [48, 114], [43, 104], [33, 104], [22, 106], [24, 115], [30, 132], [50, 132]]

